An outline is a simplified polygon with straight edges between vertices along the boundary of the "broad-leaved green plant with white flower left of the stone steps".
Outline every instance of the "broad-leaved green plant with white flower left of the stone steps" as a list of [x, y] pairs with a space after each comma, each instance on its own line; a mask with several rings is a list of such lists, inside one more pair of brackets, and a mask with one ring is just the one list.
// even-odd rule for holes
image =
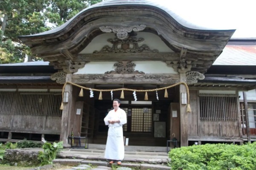
[[52, 160], [56, 159], [57, 154], [63, 148], [63, 141], [58, 143], [54, 142], [53, 144], [48, 143], [44, 139], [42, 141], [44, 142], [44, 152], [40, 151], [38, 153], [38, 160], [41, 162], [41, 165], [52, 164]]

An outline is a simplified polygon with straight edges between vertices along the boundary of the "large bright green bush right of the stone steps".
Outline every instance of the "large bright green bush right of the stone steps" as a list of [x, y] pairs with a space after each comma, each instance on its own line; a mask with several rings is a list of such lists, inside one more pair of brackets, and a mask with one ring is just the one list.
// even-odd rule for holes
[[256, 142], [180, 147], [169, 158], [172, 170], [256, 170]]

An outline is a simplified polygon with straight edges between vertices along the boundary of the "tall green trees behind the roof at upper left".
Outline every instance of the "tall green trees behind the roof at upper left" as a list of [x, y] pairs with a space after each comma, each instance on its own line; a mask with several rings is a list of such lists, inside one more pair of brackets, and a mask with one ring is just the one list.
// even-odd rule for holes
[[0, 64], [23, 62], [31, 55], [17, 36], [37, 34], [62, 25], [88, 5], [102, 0], [0, 0]]

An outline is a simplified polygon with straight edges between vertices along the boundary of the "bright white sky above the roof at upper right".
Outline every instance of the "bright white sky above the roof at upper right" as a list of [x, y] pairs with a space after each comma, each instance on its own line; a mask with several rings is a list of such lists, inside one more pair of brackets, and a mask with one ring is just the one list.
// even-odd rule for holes
[[184, 20], [213, 29], [236, 29], [232, 38], [256, 38], [256, 0], [155, 0]]

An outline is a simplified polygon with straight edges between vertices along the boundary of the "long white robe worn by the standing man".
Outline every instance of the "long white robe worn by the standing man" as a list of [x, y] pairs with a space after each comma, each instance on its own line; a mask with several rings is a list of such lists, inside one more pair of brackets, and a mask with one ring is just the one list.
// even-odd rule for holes
[[[110, 124], [109, 120], [119, 120], [120, 123]], [[104, 118], [108, 125], [108, 139], [105, 150], [105, 158], [111, 160], [123, 160], [125, 157], [125, 146], [123, 140], [122, 125], [127, 123], [126, 113], [121, 108], [117, 111], [111, 110]]]

